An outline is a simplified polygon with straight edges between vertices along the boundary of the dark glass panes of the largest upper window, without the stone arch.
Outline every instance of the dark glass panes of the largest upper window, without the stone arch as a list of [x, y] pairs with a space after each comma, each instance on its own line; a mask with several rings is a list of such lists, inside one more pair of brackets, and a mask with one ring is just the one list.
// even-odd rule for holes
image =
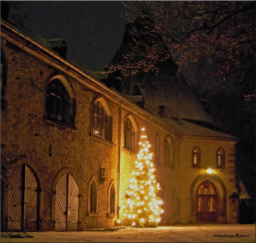
[[74, 105], [62, 82], [55, 78], [47, 85], [46, 113], [51, 120], [74, 125]]

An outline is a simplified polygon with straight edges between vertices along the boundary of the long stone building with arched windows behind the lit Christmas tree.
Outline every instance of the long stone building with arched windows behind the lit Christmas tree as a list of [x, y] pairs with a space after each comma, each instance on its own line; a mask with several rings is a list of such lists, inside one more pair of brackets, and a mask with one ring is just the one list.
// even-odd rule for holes
[[178, 70], [130, 78], [120, 93], [107, 75], [69, 63], [65, 49], [1, 21], [2, 230], [114, 226], [141, 128], [162, 225], [237, 222], [238, 139], [213, 129]]

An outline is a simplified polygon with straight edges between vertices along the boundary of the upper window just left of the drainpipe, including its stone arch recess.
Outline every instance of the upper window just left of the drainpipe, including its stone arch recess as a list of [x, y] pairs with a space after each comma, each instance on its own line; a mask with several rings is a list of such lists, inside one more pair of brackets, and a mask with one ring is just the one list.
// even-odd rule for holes
[[112, 141], [112, 112], [106, 99], [99, 96], [92, 102], [91, 134]]

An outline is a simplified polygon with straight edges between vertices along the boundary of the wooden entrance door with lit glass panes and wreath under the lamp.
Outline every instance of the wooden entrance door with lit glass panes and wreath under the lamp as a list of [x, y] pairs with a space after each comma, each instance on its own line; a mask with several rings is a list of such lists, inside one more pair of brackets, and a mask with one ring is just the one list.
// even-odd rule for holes
[[205, 180], [196, 192], [197, 221], [217, 221], [217, 191], [214, 185]]

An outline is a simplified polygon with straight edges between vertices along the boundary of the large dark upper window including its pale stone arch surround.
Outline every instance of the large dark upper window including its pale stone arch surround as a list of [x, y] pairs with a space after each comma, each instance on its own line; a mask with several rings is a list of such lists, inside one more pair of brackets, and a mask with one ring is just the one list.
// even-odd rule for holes
[[63, 75], [55, 75], [47, 83], [46, 118], [59, 124], [75, 126], [75, 94]]

